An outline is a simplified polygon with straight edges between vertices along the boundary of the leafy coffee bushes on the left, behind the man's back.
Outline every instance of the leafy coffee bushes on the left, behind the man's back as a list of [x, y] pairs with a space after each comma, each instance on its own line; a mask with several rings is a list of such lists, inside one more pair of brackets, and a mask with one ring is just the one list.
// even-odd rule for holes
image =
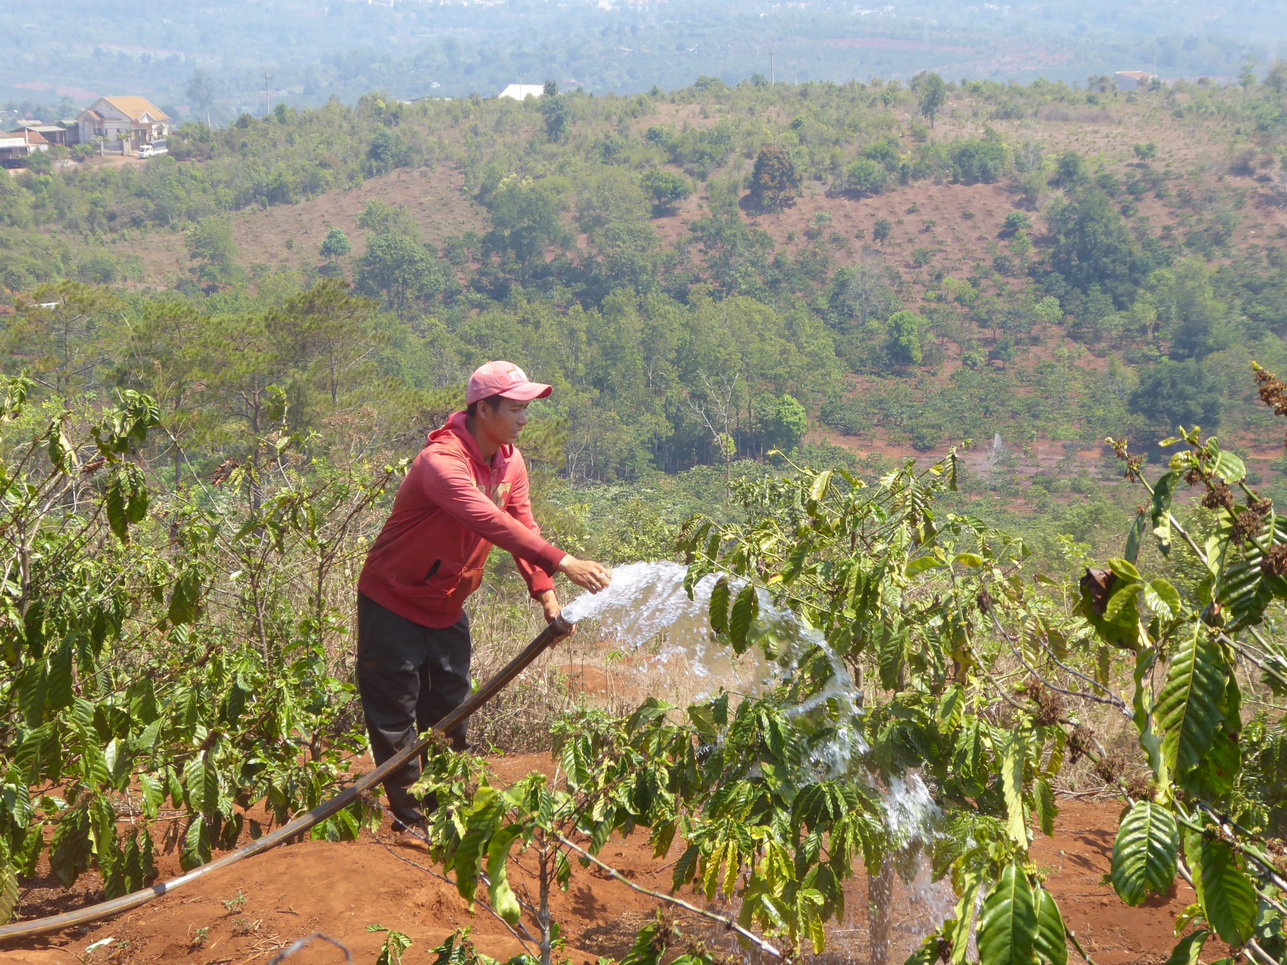
[[0, 921], [41, 857], [63, 887], [97, 866], [115, 897], [158, 847], [192, 868], [263, 832], [252, 804], [279, 823], [337, 787], [362, 744], [332, 570], [393, 473], [305, 476], [306, 440], [281, 431], [272, 480], [225, 466], [166, 494], [138, 458], [152, 399], [77, 412], [28, 389], [0, 386]]

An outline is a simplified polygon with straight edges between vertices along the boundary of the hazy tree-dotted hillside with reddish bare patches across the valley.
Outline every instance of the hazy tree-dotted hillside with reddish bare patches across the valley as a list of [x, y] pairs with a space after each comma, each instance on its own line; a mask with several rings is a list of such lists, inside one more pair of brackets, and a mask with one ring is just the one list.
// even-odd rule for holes
[[[14, 178], [5, 277], [22, 291], [79, 275], [130, 299], [178, 286], [214, 311], [346, 278], [391, 313], [402, 358], [376, 368], [414, 391], [458, 382], [499, 326], [505, 351], [574, 387], [556, 396], [573, 479], [709, 463], [717, 410], [737, 454], [758, 457], [785, 437], [771, 418], [790, 399], [808, 439], [860, 459], [974, 440], [977, 472], [995, 482], [1006, 466], [996, 511], [1021, 495], [1009, 508], [1058, 516], [1069, 473], [1118, 499], [1103, 439], [1179, 423], [1219, 426], [1277, 485], [1242, 373], [1251, 358], [1287, 368], [1281, 71], [1247, 90], [969, 82], [941, 103], [934, 80], [710, 80], [525, 104], [368, 95], [189, 126], [170, 157]], [[777, 149], [788, 183], [770, 198], [757, 166]], [[692, 326], [717, 305], [719, 327], [750, 326], [762, 347], [710, 355]], [[582, 337], [579, 313], [627, 324], [627, 355], [678, 324], [663, 344], [687, 360], [669, 356], [664, 385], [604, 386], [557, 347]], [[532, 341], [534, 324], [557, 335]], [[620, 336], [596, 324], [596, 358], [634, 372], [607, 362]], [[418, 353], [429, 365], [413, 371]], [[631, 413], [624, 432], [588, 416], [596, 399]]]

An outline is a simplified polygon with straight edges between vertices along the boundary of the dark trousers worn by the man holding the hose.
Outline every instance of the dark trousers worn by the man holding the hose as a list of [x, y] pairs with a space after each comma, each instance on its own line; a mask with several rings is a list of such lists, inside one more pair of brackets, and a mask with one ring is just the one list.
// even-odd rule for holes
[[[382, 764], [470, 695], [470, 620], [441, 630], [386, 610], [358, 594], [358, 692], [367, 714], [367, 733], [376, 764]], [[466, 750], [467, 722], [445, 736], [457, 750]], [[421, 804], [411, 793], [420, 780], [427, 753], [385, 780], [385, 794], [395, 827], [425, 823]], [[436, 802], [426, 799], [432, 811]]]

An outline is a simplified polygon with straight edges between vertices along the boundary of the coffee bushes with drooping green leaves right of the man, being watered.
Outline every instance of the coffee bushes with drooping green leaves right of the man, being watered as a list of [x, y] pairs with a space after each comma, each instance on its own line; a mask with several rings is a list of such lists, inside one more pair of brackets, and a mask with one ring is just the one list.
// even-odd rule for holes
[[[1287, 389], [1259, 378], [1287, 414]], [[1287, 692], [1275, 638], [1287, 525], [1246, 484], [1242, 462], [1197, 430], [1165, 440], [1181, 449], [1152, 485], [1143, 461], [1113, 444], [1149, 506], [1124, 556], [1075, 587], [1026, 573], [1022, 540], [936, 506], [956, 485], [955, 453], [875, 482], [802, 470], [736, 484], [744, 522], [696, 517], [686, 528], [687, 585], [716, 580], [712, 632], [776, 659], [779, 686], [682, 715], [650, 700], [620, 721], [571, 717], [557, 735], [561, 778], [533, 776], [508, 791], [484, 781], [472, 796], [461, 785], [435, 822], [435, 853], [462, 894], [485, 880], [493, 906], [517, 923], [524, 902], [510, 893], [506, 858], [534, 848], [543, 892], [532, 910], [547, 929], [547, 883], [566, 887], [577, 858], [602, 865], [595, 854], [614, 831], [646, 827], [659, 857], [680, 843], [664, 899], [692, 890], [701, 907], [683, 906], [708, 915], [727, 905], [744, 944], [781, 941], [770, 946], [781, 957], [822, 951], [861, 859], [873, 960], [883, 961], [888, 876], [928, 849], [958, 901], [909, 964], [1063, 965], [1086, 951], [1030, 848], [1054, 834], [1057, 776], [1086, 758], [1127, 800], [1109, 876], [1121, 899], [1166, 894], [1178, 875], [1194, 888], [1171, 961], [1198, 961], [1212, 938], [1233, 956], [1287, 961], [1287, 739], [1277, 705], [1257, 701], [1268, 710], [1247, 721], [1242, 696]], [[1214, 524], [1202, 544], [1171, 512], [1181, 482], [1206, 490]], [[1144, 575], [1148, 535], [1163, 571]], [[1175, 544], [1194, 555], [1196, 580]], [[785, 633], [780, 607], [816, 637]], [[1122, 661], [1129, 700], [1115, 686]], [[857, 714], [837, 688], [840, 668], [862, 694]], [[1134, 777], [1086, 723], [1104, 709], [1138, 728], [1144, 769]], [[861, 740], [837, 759], [851, 726]], [[912, 771], [942, 811], [919, 840], [891, 834], [879, 793]], [[636, 951], [656, 943], [650, 934]], [[544, 932], [541, 951], [548, 961]]]

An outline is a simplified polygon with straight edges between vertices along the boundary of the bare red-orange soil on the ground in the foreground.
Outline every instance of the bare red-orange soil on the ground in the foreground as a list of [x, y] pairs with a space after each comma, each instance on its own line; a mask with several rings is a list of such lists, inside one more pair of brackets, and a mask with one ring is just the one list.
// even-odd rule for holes
[[[502, 784], [530, 769], [552, 772], [544, 755], [514, 755], [493, 762]], [[1033, 857], [1048, 872], [1046, 884], [1063, 910], [1068, 928], [1102, 965], [1162, 962], [1175, 943], [1175, 915], [1193, 901], [1183, 884], [1165, 898], [1127, 908], [1100, 879], [1108, 871], [1116, 832], [1115, 802], [1064, 800], [1054, 839], [1039, 839]], [[386, 838], [381, 832], [380, 838]], [[625, 878], [655, 890], [669, 884], [668, 856], [654, 859], [645, 832], [614, 838], [601, 852]], [[175, 854], [160, 859], [166, 878], [178, 872]], [[418, 867], [417, 865], [422, 866]], [[511, 880], [535, 889], [533, 862], [521, 856], [511, 866]], [[93, 876], [85, 876], [59, 908], [100, 899]], [[861, 871], [849, 887], [849, 912], [835, 925], [829, 957], [866, 961], [866, 881]], [[24, 898], [30, 902], [32, 894]], [[689, 896], [691, 897], [691, 896]], [[232, 907], [229, 907], [229, 905]], [[570, 965], [595, 965], [601, 956], [619, 959], [636, 929], [653, 914], [656, 902], [592, 868], [574, 867], [571, 888], [555, 892], [552, 910], [562, 924]], [[28, 914], [36, 908], [28, 905]], [[53, 911], [45, 903], [40, 914]], [[508, 957], [520, 942], [486, 911], [471, 915], [449, 881], [431, 870], [427, 858], [413, 850], [386, 847], [369, 835], [351, 844], [305, 841], [279, 848], [201, 879], [188, 888], [118, 919], [86, 929], [21, 943], [0, 953], [12, 965], [54, 965], [85, 961], [95, 942], [113, 942], [89, 955], [91, 964], [193, 962], [193, 965], [251, 965], [266, 962], [273, 952], [313, 932], [342, 942], [356, 962], [375, 959], [380, 935], [367, 925], [380, 924], [408, 934], [414, 946], [407, 965], [431, 961], [429, 952], [457, 928], [472, 928], [472, 938], [489, 955]], [[894, 925], [897, 930], [898, 920]], [[533, 925], [529, 921], [528, 928]], [[198, 942], [197, 938], [201, 937]], [[713, 941], [719, 941], [712, 935]], [[902, 941], [907, 941], [903, 938]], [[896, 947], [891, 960], [902, 961], [910, 948]], [[292, 956], [301, 965], [338, 962], [329, 946], [313, 946]]]

